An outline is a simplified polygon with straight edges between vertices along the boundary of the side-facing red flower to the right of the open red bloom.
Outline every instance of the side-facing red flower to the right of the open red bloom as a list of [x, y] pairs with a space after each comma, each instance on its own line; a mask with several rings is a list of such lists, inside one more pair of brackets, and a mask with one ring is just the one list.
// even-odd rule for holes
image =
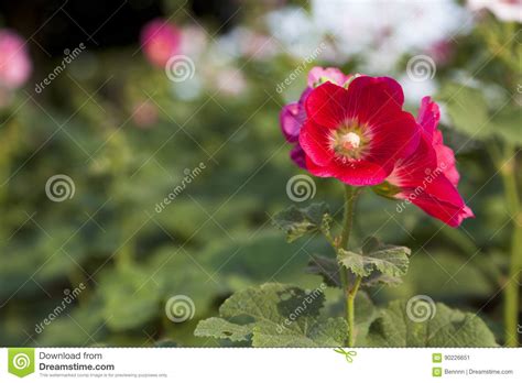
[[405, 199], [443, 222], [458, 227], [464, 219], [475, 216], [456, 188], [459, 174], [453, 151], [444, 145], [442, 132], [436, 129], [439, 117], [438, 106], [429, 97], [423, 98], [417, 118], [422, 128], [418, 147], [398, 162], [387, 182], [399, 189], [395, 198]]

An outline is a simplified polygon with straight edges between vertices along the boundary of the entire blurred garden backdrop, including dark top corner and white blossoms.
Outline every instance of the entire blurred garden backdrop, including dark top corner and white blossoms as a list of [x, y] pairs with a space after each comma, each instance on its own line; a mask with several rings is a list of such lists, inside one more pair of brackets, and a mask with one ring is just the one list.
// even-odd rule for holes
[[[194, 63], [186, 80], [171, 80], [140, 47], [156, 18], [182, 31], [178, 53]], [[193, 331], [231, 293], [264, 282], [317, 287], [304, 270], [327, 244], [287, 244], [271, 221], [294, 204], [286, 183], [303, 173], [289, 160], [279, 111], [314, 65], [395, 77], [414, 114], [423, 96], [441, 101], [459, 190], [476, 215], [450, 229], [366, 193], [354, 243], [377, 233], [413, 254], [405, 283], [371, 298], [425, 294], [477, 313], [505, 341], [503, 289], [522, 226], [504, 193], [507, 178], [519, 190], [521, 182], [516, 20], [444, 0], [6, 1], [0, 26], [24, 39], [33, 67], [23, 87], [0, 92], [0, 344], [214, 347]], [[36, 91], [80, 43], [85, 51]], [[434, 66], [412, 78], [407, 63], [418, 55]], [[72, 179], [70, 198], [48, 198], [54, 175]], [[341, 187], [315, 183], [300, 205], [324, 199], [338, 211]], [[176, 295], [194, 303], [192, 319], [168, 319]]]

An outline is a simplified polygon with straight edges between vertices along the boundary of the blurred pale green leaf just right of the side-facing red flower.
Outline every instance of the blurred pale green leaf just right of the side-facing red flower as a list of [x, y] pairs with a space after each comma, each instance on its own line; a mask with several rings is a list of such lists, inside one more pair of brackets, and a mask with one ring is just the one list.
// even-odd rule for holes
[[493, 132], [488, 105], [480, 89], [449, 83], [442, 90], [441, 98], [446, 102], [455, 129], [476, 139], [487, 138]]

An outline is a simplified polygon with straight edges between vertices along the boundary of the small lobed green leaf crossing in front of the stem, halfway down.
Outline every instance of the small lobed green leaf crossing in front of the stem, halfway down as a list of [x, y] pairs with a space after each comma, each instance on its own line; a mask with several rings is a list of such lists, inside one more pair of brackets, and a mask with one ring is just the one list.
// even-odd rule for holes
[[369, 277], [373, 272], [396, 278], [407, 272], [411, 251], [404, 247], [383, 244], [376, 238], [369, 238], [361, 251], [362, 254], [340, 249], [340, 264], [354, 274]]

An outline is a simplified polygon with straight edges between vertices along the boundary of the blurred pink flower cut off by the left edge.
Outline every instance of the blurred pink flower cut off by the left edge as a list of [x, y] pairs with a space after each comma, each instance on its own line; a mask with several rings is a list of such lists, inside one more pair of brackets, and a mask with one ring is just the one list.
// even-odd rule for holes
[[0, 30], [0, 87], [19, 88], [28, 80], [32, 67], [23, 39], [13, 31]]

